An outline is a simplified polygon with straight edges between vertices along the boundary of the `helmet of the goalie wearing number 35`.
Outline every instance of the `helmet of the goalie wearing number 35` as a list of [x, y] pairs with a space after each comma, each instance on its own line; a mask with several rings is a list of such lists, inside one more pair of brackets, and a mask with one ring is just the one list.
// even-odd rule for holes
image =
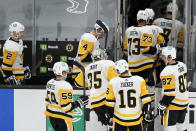
[[106, 60], [107, 53], [105, 52], [104, 49], [98, 48], [92, 52], [91, 58], [93, 61], [95, 61], [96, 59]]

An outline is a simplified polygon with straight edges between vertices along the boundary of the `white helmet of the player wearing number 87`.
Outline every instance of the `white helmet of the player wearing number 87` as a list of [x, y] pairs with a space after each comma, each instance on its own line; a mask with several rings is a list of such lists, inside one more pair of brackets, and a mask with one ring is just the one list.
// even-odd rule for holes
[[166, 59], [168, 57], [171, 57], [172, 59], [176, 59], [176, 49], [172, 46], [167, 46], [162, 50], [161, 55], [165, 56]]

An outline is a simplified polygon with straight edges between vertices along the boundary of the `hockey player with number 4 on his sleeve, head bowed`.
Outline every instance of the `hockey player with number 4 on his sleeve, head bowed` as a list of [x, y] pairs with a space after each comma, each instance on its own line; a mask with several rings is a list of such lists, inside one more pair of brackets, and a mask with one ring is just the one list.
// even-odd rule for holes
[[[108, 32], [109, 26], [105, 22], [97, 20], [94, 25], [94, 29], [90, 33], [84, 33], [81, 36], [76, 60], [80, 61], [84, 65], [84, 67], [90, 64], [92, 62], [92, 52], [95, 49], [100, 48], [99, 39], [103, 38], [104, 36], [107, 36]], [[80, 70], [74, 66], [72, 77], [75, 78], [75, 76], [79, 72]]]

